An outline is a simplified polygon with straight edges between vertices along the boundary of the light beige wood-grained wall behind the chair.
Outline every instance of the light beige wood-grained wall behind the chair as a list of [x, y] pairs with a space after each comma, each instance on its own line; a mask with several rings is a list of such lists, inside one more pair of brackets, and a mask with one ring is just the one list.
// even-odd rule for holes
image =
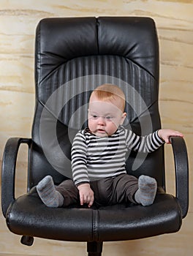
[[[162, 126], [185, 135], [189, 152], [190, 185], [193, 155], [193, 1], [192, 0], [0, 0], [0, 160], [6, 140], [30, 137], [34, 113], [34, 32], [47, 17], [137, 15], [156, 21], [160, 45], [160, 112]], [[173, 156], [166, 146], [167, 191], [175, 193]], [[19, 189], [25, 191], [26, 148], [19, 154]], [[192, 255], [193, 209], [180, 232], [137, 241], [104, 244], [103, 255]], [[0, 255], [86, 255], [86, 244], [46, 241], [20, 244], [1, 219]]]

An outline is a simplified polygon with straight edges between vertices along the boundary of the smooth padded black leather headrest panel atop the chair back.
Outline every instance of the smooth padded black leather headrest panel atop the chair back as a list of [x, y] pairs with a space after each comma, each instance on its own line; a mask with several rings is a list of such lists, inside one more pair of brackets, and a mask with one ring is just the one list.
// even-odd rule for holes
[[39, 22], [37, 83], [70, 59], [91, 55], [124, 56], [159, 79], [159, 45], [151, 18], [49, 18]]

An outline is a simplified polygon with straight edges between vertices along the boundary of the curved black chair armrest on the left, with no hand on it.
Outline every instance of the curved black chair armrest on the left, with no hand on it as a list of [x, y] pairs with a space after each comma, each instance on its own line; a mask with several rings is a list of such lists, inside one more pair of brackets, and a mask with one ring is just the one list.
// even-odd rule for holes
[[27, 138], [10, 138], [4, 147], [1, 167], [1, 207], [4, 217], [10, 203], [15, 200], [15, 167], [21, 143], [31, 148], [31, 139]]

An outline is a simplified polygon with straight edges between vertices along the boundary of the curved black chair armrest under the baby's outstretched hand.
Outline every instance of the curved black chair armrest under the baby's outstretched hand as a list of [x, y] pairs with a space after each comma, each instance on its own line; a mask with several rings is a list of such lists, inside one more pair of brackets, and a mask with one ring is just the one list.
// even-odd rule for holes
[[189, 208], [189, 162], [186, 143], [181, 137], [171, 137], [175, 161], [175, 197], [178, 199], [182, 217], [186, 217]]

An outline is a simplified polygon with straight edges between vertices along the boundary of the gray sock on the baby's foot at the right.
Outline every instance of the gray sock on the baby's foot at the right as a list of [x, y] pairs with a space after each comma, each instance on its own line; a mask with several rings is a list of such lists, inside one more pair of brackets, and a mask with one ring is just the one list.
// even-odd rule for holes
[[156, 197], [156, 180], [149, 176], [140, 176], [138, 180], [138, 189], [135, 193], [135, 200], [143, 206], [150, 206], [154, 203]]

